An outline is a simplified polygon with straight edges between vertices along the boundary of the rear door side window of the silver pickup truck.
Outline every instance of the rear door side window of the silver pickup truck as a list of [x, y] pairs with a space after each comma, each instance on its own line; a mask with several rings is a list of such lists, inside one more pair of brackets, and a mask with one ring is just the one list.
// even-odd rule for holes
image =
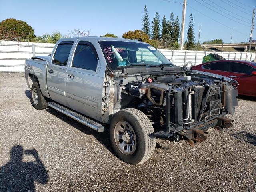
[[56, 65], [66, 66], [72, 45], [72, 41], [60, 42], [60, 44], [58, 44], [58, 47], [56, 48], [52, 63]]

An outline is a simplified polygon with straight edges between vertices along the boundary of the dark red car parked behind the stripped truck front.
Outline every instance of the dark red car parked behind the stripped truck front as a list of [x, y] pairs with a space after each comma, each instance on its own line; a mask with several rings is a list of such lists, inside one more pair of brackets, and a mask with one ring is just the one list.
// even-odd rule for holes
[[215, 73], [230, 77], [239, 83], [238, 94], [256, 97], [256, 63], [240, 60], [210, 61], [192, 70]]

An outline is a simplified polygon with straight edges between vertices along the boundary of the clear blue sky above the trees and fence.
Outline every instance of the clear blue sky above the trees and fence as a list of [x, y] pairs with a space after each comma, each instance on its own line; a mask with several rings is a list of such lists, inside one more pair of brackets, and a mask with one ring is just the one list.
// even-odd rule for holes
[[[26, 21], [35, 30], [36, 36], [55, 30], [65, 35], [79, 28], [90, 30], [90, 36], [113, 33], [122, 37], [129, 30], [142, 30], [145, 4], [150, 27], [156, 12], [161, 22], [164, 14], [170, 20], [173, 12], [181, 24], [182, 3], [183, 0], [0, 0], [0, 21], [7, 18]], [[200, 43], [217, 38], [222, 38], [225, 43], [230, 43], [230, 40], [249, 41], [256, 0], [187, 0], [187, 4], [184, 38], [192, 13], [196, 42], [199, 28]], [[253, 39], [256, 39], [256, 29]]]

